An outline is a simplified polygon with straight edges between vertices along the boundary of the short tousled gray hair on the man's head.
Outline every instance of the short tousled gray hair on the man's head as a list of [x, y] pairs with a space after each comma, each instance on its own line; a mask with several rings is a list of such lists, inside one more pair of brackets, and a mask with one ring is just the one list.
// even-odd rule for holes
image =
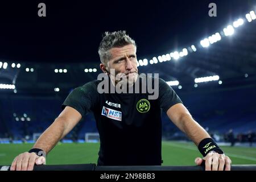
[[111, 59], [112, 55], [109, 49], [123, 47], [129, 44], [133, 44], [137, 48], [135, 41], [126, 34], [126, 31], [105, 32], [100, 47], [98, 47], [101, 63], [106, 64]]

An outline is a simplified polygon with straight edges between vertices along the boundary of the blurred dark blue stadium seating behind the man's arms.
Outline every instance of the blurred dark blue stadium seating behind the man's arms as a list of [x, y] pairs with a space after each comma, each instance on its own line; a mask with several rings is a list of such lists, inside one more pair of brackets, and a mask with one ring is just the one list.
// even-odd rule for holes
[[[176, 91], [177, 92], [177, 91]], [[180, 92], [180, 91], [179, 91]], [[177, 92], [193, 118], [210, 134], [224, 136], [230, 129], [234, 135], [256, 131], [256, 107], [250, 89], [219, 92]], [[10, 97], [0, 100], [0, 138], [31, 141], [34, 133], [42, 133], [61, 112], [64, 98]], [[184, 139], [185, 135], [163, 113], [163, 138]], [[97, 133], [92, 113], [64, 138], [84, 140], [85, 133]], [[224, 139], [224, 137], [222, 137]], [[256, 139], [255, 139], [256, 140]]]

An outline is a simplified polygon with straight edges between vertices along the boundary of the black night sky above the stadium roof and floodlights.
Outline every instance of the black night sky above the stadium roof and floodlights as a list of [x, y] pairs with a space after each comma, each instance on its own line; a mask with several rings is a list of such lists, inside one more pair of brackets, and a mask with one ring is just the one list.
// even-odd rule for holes
[[[46, 17], [38, 4], [46, 3]], [[209, 17], [209, 3], [217, 17]], [[105, 31], [126, 30], [138, 57], [191, 46], [255, 8], [255, 1], [0, 2], [0, 60], [98, 62]]]

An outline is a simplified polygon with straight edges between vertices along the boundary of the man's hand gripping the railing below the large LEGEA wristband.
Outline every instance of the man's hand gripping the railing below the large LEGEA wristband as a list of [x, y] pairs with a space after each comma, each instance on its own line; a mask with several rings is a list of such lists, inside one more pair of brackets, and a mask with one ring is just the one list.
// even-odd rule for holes
[[218, 154], [217, 152], [209, 152], [203, 159], [196, 158], [195, 163], [200, 166], [205, 160], [205, 171], [230, 171], [232, 161], [225, 154]]

